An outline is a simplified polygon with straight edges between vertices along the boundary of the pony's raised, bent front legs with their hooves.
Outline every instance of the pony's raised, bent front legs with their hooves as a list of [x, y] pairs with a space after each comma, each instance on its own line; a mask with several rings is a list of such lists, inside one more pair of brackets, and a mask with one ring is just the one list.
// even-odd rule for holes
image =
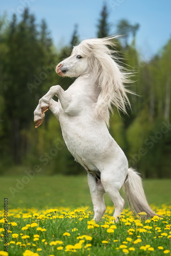
[[58, 118], [59, 103], [53, 100], [53, 96], [56, 95], [60, 100], [62, 109], [68, 108], [72, 101], [72, 96], [65, 92], [60, 86], [52, 86], [47, 94], [43, 96], [34, 111], [34, 122], [37, 128], [44, 120], [45, 112], [50, 109], [52, 113]]

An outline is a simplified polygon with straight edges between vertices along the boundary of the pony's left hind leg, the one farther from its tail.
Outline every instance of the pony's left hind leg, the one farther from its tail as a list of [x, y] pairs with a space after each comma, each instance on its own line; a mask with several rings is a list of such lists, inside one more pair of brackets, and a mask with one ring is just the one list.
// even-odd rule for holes
[[105, 190], [103, 188], [103, 185], [101, 184], [101, 181], [99, 179], [96, 179], [96, 177], [91, 173], [88, 173], [88, 183], [94, 206], [93, 219], [96, 221], [100, 221], [106, 209], [103, 199], [103, 194], [105, 193]]

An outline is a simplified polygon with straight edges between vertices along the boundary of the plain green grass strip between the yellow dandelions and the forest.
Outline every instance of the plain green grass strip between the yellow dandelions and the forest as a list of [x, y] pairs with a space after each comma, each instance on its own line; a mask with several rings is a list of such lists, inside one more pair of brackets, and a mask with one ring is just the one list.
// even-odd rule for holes
[[[8, 197], [10, 208], [18, 206], [44, 208], [45, 206], [85, 206], [92, 205], [87, 176], [35, 176], [24, 188], [16, 185], [23, 176], [1, 177], [0, 207]], [[150, 204], [171, 204], [171, 180], [144, 180], [145, 195]], [[13, 195], [10, 189], [15, 188]], [[22, 188], [22, 189], [20, 189]], [[124, 197], [124, 194], [121, 191]], [[108, 195], [104, 195], [106, 205], [113, 205]]]

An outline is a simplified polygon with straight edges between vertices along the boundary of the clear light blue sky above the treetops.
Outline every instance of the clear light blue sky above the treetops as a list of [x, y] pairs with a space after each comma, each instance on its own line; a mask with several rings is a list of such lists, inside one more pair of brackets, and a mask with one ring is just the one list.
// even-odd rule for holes
[[46, 19], [57, 48], [67, 45], [78, 24], [80, 39], [96, 37], [97, 23], [103, 3], [109, 10], [111, 34], [116, 34], [116, 24], [122, 18], [134, 25], [140, 24], [137, 47], [145, 60], [158, 53], [171, 37], [170, 0], [6, 0], [1, 1], [1, 12], [6, 11], [10, 20], [12, 13], [22, 12], [29, 6], [37, 23]]

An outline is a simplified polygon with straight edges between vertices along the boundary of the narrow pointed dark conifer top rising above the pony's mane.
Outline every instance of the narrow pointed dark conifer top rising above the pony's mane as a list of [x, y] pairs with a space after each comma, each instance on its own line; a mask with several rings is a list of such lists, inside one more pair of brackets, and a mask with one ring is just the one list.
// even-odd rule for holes
[[110, 34], [110, 24], [108, 23], [108, 16], [109, 12], [107, 10], [106, 4], [103, 5], [102, 11], [100, 13], [100, 18], [98, 20], [98, 31], [97, 31], [97, 37], [103, 38], [106, 36], [109, 36]]

